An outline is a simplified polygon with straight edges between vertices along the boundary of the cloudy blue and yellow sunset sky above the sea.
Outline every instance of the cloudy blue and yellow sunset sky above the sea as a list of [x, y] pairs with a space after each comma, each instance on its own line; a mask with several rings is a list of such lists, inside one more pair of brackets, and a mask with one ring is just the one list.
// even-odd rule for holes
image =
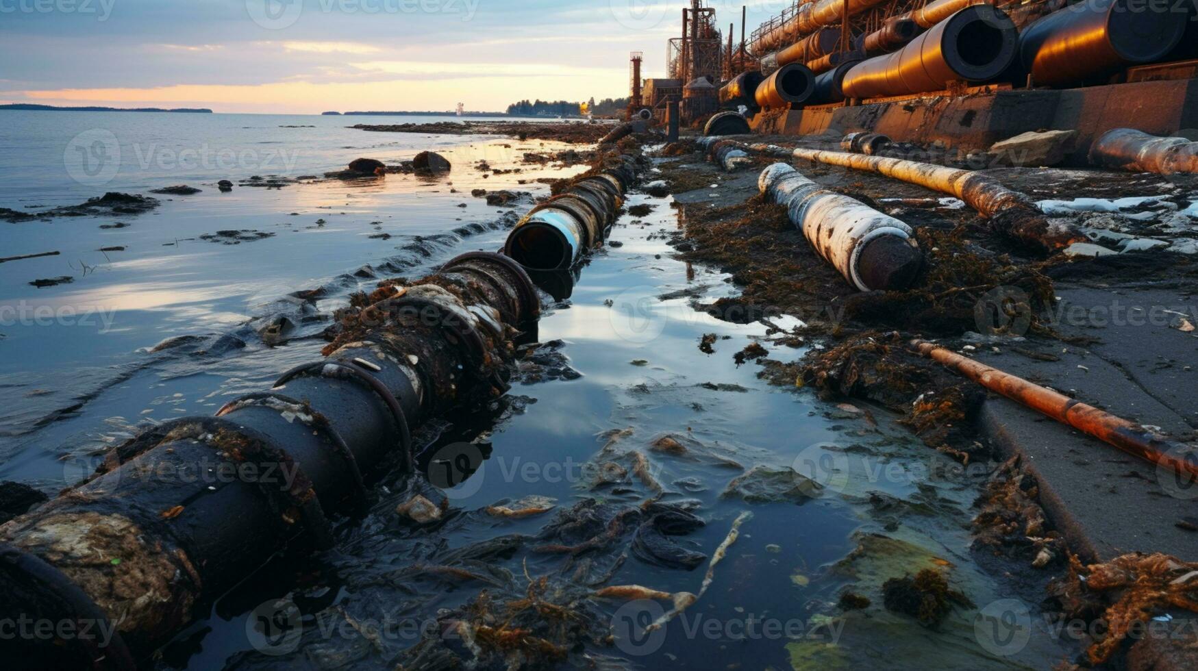
[[[792, 0], [749, 0], [749, 31]], [[708, 0], [727, 31], [740, 7]], [[0, 103], [502, 111], [624, 97], [688, 0], [0, 0]], [[725, 35], [726, 37], [726, 35]]]

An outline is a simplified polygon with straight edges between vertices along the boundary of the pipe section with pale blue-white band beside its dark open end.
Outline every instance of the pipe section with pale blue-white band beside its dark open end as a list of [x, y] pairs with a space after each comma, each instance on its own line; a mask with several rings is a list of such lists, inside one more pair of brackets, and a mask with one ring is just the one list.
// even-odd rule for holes
[[622, 157], [618, 164], [574, 182], [512, 229], [504, 253], [534, 270], [573, 266], [604, 241], [635, 179], [631, 159]]

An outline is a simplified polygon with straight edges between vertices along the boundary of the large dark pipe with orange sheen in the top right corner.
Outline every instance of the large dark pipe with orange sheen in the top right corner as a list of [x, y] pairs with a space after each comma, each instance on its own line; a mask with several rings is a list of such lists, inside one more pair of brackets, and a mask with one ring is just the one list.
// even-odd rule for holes
[[1019, 58], [1037, 85], [1078, 86], [1154, 62], [1181, 41], [1188, 14], [1173, 2], [1088, 0], [1023, 29]]

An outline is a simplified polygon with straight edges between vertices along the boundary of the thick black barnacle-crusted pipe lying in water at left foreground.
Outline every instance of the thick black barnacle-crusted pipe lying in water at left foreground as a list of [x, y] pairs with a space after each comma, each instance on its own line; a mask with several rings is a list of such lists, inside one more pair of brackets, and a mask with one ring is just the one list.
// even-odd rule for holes
[[[609, 220], [634, 177], [621, 157], [557, 211], [594, 206]], [[514, 337], [539, 307], [513, 259], [461, 255], [381, 286], [343, 319], [327, 358], [114, 449], [91, 478], [0, 526], [0, 621], [58, 636], [6, 640], [6, 664], [135, 669], [284, 546], [331, 548], [331, 519], [364, 510], [375, 476], [413, 470], [416, 427], [507, 389]]]

